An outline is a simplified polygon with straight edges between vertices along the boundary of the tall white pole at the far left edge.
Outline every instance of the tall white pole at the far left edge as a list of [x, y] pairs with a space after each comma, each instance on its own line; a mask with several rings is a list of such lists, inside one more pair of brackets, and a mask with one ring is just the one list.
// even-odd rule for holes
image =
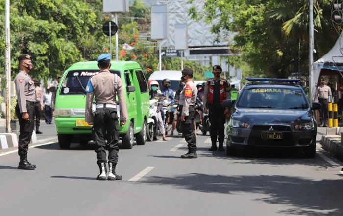
[[5, 0], [6, 133], [11, 132], [11, 41], [9, 28], [9, 6], [9, 0]]

